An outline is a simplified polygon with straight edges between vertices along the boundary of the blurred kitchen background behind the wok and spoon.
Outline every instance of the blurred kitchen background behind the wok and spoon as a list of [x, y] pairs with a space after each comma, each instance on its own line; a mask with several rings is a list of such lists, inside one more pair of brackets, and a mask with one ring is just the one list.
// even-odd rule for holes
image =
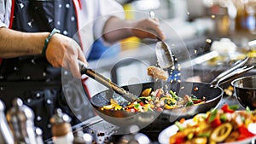
[[[251, 41], [256, 39], [256, 0], [116, 1], [123, 5], [128, 20], [149, 17], [154, 11], [166, 43], [180, 63], [182, 80], [210, 82], [233, 60], [247, 55], [252, 58], [250, 65], [255, 64], [256, 44]], [[216, 48], [212, 48], [214, 42], [218, 42]], [[95, 50], [90, 66], [119, 85], [152, 81], [147, 67], [156, 64], [155, 43], [136, 37], [125, 39], [110, 49]], [[218, 53], [210, 53], [212, 49]], [[88, 83], [92, 95], [105, 89], [101, 84]]]

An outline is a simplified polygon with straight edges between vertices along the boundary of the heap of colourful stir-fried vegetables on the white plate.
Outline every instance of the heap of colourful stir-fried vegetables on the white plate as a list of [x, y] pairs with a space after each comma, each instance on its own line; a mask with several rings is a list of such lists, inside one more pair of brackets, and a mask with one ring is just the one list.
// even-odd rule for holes
[[236, 111], [237, 108], [225, 104], [221, 109], [195, 115], [191, 123], [177, 121], [175, 124], [179, 130], [170, 137], [169, 143], [215, 144], [254, 136], [247, 128], [256, 123], [256, 111]]

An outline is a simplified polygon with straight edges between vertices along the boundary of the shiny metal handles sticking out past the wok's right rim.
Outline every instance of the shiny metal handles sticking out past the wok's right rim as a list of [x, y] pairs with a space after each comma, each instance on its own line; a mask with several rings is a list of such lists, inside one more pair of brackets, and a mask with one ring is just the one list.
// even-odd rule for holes
[[[243, 66], [247, 60], [249, 58], [246, 57], [245, 59], [243, 60], [238, 60], [236, 61], [235, 64], [233, 64], [233, 66], [229, 69], [229, 70], [226, 70], [224, 72], [221, 72], [217, 78], [214, 78], [212, 80], [212, 82], [210, 84], [212, 84], [212, 87], [217, 87], [218, 84], [220, 84], [220, 82], [223, 82], [225, 79], [227, 78], [231, 78], [233, 76], [236, 76], [236, 75], [239, 75], [239, 74], [242, 74], [244, 72], [247, 72], [251, 69], [253, 69], [254, 66], [250, 66], [250, 67], [247, 67], [247, 66]], [[241, 67], [243, 66], [243, 67]]]

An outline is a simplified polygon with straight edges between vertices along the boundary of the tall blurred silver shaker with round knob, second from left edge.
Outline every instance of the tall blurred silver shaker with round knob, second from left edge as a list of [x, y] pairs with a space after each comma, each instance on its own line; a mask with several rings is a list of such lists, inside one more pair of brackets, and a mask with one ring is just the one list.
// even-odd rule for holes
[[23, 105], [20, 98], [13, 101], [13, 107], [6, 115], [9, 127], [13, 132], [15, 144], [36, 144], [34, 127], [34, 112], [30, 107]]

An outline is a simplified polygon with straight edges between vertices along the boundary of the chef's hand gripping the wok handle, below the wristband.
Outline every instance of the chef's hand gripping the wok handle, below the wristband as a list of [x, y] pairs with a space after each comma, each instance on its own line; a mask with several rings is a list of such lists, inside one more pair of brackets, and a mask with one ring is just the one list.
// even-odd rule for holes
[[45, 55], [52, 66], [67, 68], [72, 72], [74, 78], [81, 78], [78, 60], [88, 65], [79, 44], [72, 38], [59, 33], [55, 33], [50, 38]]

